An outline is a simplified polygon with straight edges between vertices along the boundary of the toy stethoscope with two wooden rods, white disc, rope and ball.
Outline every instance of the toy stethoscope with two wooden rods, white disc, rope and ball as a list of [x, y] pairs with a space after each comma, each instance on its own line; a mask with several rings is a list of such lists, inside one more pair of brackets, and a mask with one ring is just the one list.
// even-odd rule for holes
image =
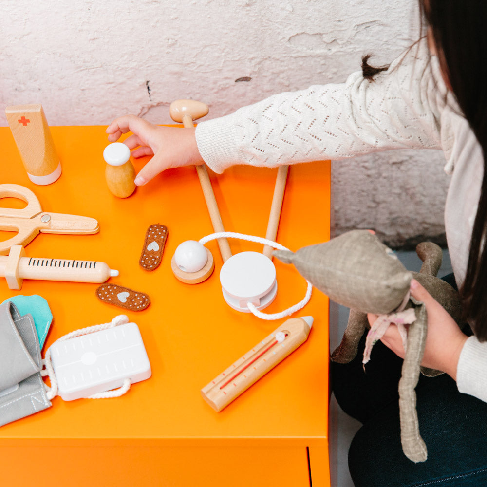
[[[194, 120], [208, 113], [208, 107], [194, 100], [177, 100], [171, 103], [169, 112], [174, 121], [183, 123], [185, 128], [192, 128]], [[251, 312], [258, 318], [270, 320], [284, 318], [304, 307], [311, 298], [312, 285], [308, 281], [306, 295], [299, 303], [280, 313], [261, 312], [272, 303], [277, 294], [276, 269], [271, 260], [272, 249], [288, 250], [273, 241], [277, 235], [288, 169], [288, 166], [281, 166], [278, 169], [266, 238], [261, 238], [225, 232], [206, 167], [196, 166], [215, 233], [199, 241], [188, 240], [176, 248], [171, 261], [174, 275], [188, 284], [205, 281], [213, 272], [215, 264], [211, 252], [204, 245], [212, 240], [218, 240], [224, 261], [220, 271], [223, 296], [233, 309]], [[232, 255], [227, 238], [261, 243], [264, 245], [263, 252], [240, 252]]]

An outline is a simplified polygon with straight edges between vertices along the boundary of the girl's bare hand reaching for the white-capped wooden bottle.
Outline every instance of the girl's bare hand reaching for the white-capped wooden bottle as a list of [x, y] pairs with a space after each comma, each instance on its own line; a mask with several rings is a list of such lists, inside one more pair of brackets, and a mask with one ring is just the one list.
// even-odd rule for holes
[[110, 142], [116, 142], [123, 133], [132, 132], [124, 144], [133, 149], [133, 157], [153, 156], [137, 174], [137, 186], [145, 185], [165, 169], [203, 164], [195, 129], [161, 127], [135, 115], [125, 115], [113, 120], [106, 132]]

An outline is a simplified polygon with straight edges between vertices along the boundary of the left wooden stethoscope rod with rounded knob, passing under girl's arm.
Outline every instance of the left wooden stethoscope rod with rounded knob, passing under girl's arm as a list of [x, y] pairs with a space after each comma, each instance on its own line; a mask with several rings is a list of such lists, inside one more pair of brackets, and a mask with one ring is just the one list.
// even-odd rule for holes
[[[171, 103], [169, 113], [175, 122], [182, 123], [185, 128], [193, 128], [193, 121], [205, 116], [208, 113], [208, 106], [195, 100], [176, 100]], [[225, 228], [223, 226], [222, 217], [220, 216], [220, 210], [218, 209], [215, 193], [213, 192], [206, 166], [196, 166], [196, 172], [205, 196], [206, 207], [208, 208], [213, 230], [215, 232], [224, 232]], [[223, 262], [232, 256], [230, 244], [228, 244], [227, 239], [218, 239], [218, 247]]]

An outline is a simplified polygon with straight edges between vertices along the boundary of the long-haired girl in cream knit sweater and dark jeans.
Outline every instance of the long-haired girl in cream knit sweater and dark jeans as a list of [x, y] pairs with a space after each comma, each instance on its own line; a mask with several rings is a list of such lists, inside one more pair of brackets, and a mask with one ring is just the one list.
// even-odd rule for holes
[[416, 388], [424, 463], [401, 450], [397, 382], [404, 350], [396, 327], [375, 346], [366, 374], [360, 359], [332, 364], [338, 403], [363, 423], [349, 452], [352, 478], [363, 487], [487, 485], [487, 2], [419, 4], [427, 35], [389, 67], [373, 69], [365, 59], [363, 72], [343, 84], [274, 95], [194, 130], [133, 115], [107, 129], [111, 142], [133, 133], [125, 143], [134, 157], [153, 155], [137, 185], [182, 165], [206, 163], [222, 172], [233, 164], [278, 166], [398, 148], [445, 152], [451, 173], [445, 228], [473, 335], [412, 282], [412, 296], [429, 317], [422, 365], [446, 372], [421, 377]]

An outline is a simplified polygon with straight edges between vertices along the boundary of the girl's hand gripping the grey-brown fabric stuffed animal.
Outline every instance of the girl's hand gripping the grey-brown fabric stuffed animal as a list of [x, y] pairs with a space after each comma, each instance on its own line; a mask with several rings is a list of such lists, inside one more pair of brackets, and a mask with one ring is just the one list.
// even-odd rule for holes
[[[458, 359], [468, 337], [462, 333], [445, 308], [414, 279], [411, 281], [411, 295], [425, 304], [428, 313], [428, 331], [421, 365], [446, 372], [456, 380]], [[376, 315], [369, 314], [369, 323], [372, 324], [376, 318]], [[389, 326], [381, 341], [396, 355], [404, 358], [404, 348], [395, 325]]]

